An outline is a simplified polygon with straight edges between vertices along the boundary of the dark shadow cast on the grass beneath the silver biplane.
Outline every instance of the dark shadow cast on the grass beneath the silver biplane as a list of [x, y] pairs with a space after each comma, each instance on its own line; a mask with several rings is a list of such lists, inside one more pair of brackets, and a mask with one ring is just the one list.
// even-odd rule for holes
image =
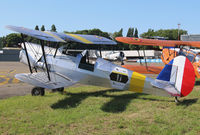
[[153, 98], [145, 98], [140, 97], [147, 94], [143, 93], [130, 93], [130, 94], [122, 94], [122, 95], [108, 95], [107, 92], [122, 92], [115, 89], [110, 90], [102, 90], [102, 91], [96, 91], [96, 92], [80, 92], [80, 93], [69, 93], [67, 92], [67, 96], [57, 103], [51, 105], [51, 108], [53, 109], [68, 109], [72, 107], [77, 107], [82, 100], [86, 99], [90, 96], [95, 97], [107, 97], [111, 98], [111, 100], [107, 103], [105, 103], [101, 109], [105, 112], [111, 112], [111, 113], [120, 113], [126, 110], [127, 105], [130, 103], [133, 99], [142, 99], [142, 100], [149, 100], [149, 101], [162, 101], [162, 102], [174, 102], [172, 100], [162, 100], [162, 99], [153, 99]]

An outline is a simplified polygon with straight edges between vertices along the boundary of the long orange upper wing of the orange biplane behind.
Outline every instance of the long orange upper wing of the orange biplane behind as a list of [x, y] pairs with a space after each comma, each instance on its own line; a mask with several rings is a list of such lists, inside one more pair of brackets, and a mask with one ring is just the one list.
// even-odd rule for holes
[[193, 46], [200, 48], [200, 41], [179, 41], [179, 40], [156, 40], [156, 39], [141, 39], [133, 37], [116, 37], [117, 41], [133, 45], [147, 45], [147, 46]]

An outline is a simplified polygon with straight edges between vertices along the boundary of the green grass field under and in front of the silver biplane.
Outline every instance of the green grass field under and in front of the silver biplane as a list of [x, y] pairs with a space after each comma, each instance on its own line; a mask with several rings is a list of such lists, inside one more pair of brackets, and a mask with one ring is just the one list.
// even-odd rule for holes
[[200, 134], [200, 86], [173, 98], [78, 86], [0, 100], [0, 134]]

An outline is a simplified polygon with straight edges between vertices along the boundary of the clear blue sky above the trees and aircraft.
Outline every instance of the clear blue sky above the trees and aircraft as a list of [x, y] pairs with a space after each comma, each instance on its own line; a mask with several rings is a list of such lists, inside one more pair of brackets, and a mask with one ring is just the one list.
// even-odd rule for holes
[[199, 0], [0, 0], [0, 37], [12, 33], [6, 25], [58, 32], [99, 28], [114, 33], [129, 27], [139, 34], [149, 28], [187, 30], [200, 34]]

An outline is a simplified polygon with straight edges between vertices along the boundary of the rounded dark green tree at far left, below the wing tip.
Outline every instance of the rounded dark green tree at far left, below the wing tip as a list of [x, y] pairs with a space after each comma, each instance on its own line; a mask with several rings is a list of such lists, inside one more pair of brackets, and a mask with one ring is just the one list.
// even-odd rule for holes
[[6, 36], [6, 47], [16, 47], [18, 43], [21, 43], [20, 34], [11, 33]]

